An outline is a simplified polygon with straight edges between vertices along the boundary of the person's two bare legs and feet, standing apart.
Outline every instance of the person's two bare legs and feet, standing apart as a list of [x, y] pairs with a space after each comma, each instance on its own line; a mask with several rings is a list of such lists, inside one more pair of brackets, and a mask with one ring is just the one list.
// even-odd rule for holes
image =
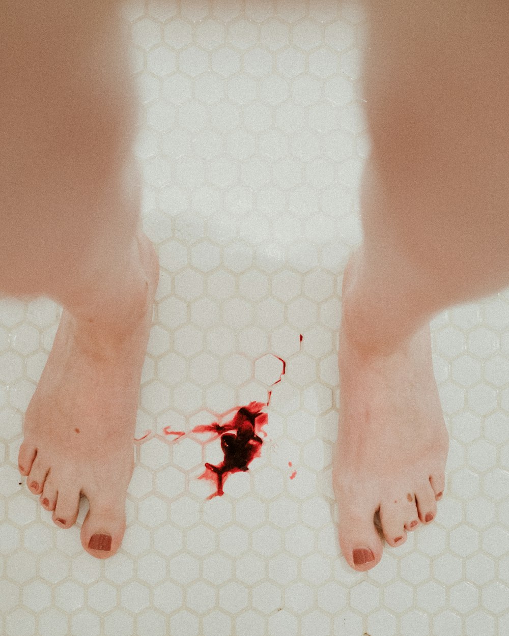
[[[359, 571], [382, 556], [375, 513], [399, 546], [443, 495], [429, 319], [509, 284], [504, 3], [407, 4], [366, 2], [372, 155], [344, 275], [333, 460], [339, 543]], [[52, 0], [30, 20], [35, 6], [0, 8], [0, 289], [64, 312], [18, 461], [57, 526], [87, 496], [81, 543], [107, 558], [125, 530], [158, 261], [139, 228], [118, 3]]]

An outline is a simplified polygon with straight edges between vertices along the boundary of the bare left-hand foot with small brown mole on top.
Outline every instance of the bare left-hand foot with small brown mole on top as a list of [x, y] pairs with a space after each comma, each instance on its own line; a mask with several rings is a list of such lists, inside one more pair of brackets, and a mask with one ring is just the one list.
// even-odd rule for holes
[[64, 310], [25, 415], [18, 456], [29, 489], [59, 527], [76, 522], [80, 495], [87, 496], [81, 544], [97, 558], [115, 554], [125, 532], [139, 384], [158, 282], [153, 245], [143, 233], [137, 241], [144, 289], [133, 291], [130, 320], [97, 328]]

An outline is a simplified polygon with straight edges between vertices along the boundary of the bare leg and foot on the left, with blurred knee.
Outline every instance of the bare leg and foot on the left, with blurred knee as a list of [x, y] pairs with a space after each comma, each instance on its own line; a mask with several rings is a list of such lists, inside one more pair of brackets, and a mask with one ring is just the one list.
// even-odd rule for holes
[[136, 93], [118, 7], [38, 6], [0, 9], [0, 289], [48, 295], [64, 311], [18, 462], [59, 527], [87, 496], [81, 542], [105, 558], [125, 530], [158, 263], [139, 230]]

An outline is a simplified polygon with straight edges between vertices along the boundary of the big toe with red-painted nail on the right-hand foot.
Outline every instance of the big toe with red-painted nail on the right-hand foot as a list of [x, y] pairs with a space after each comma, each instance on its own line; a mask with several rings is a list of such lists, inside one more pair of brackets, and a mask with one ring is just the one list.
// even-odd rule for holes
[[339, 543], [350, 567], [358, 572], [372, 569], [382, 558], [382, 541], [373, 517], [376, 508], [340, 508]]

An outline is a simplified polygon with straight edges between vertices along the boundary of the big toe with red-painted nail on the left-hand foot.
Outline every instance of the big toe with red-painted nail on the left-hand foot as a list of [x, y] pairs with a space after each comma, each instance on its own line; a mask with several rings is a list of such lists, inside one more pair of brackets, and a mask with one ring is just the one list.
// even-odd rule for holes
[[125, 504], [89, 497], [88, 510], [81, 527], [81, 545], [96, 558], [113, 556], [120, 548], [125, 532]]

